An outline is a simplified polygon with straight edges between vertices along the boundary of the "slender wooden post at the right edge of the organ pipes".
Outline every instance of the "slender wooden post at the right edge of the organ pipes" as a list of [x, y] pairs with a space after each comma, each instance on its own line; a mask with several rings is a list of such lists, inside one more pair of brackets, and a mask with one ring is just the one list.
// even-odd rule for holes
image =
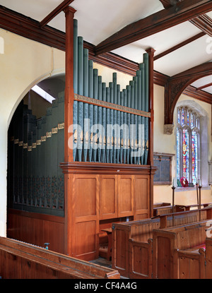
[[155, 174], [152, 172], [152, 167], [154, 165], [153, 162], [153, 125], [154, 125], [154, 53], [155, 49], [149, 48], [146, 50], [148, 53], [148, 66], [149, 66], [149, 85], [148, 85], [148, 91], [149, 91], [149, 112], [151, 112], [151, 119], [149, 119], [149, 138], [148, 138], [148, 145], [149, 145], [149, 150], [148, 150], [148, 165], [151, 166], [151, 175], [150, 175], [150, 214], [151, 217], [153, 217], [153, 178]]

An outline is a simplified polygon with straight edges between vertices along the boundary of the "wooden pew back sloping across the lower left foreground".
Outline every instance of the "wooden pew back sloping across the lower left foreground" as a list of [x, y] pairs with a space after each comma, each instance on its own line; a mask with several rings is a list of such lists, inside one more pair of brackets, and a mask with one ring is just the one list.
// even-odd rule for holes
[[3, 279], [119, 279], [117, 270], [0, 237]]

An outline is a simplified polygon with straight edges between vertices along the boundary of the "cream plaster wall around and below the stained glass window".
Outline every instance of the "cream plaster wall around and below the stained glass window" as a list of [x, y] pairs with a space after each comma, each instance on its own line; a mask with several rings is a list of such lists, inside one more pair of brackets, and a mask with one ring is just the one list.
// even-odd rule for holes
[[[187, 95], [181, 95], [178, 102], [190, 100], [204, 109], [208, 116], [208, 128], [205, 130], [208, 135], [208, 160], [212, 157], [211, 144], [211, 104], [201, 102]], [[154, 85], [154, 152], [176, 154], [176, 111], [174, 114], [174, 130], [172, 135], [163, 133], [164, 127], [164, 88]], [[207, 163], [207, 162], [206, 162]], [[176, 177], [176, 160], [172, 160], [172, 178]], [[175, 204], [189, 205], [196, 204], [196, 189], [175, 190]], [[169, 202], [172, 203], [172, 188], [169, 185], [154, 186], [154, 203]], [[212, 202], [212, 190], [210, 187], [201, 190], [201, 203]]]

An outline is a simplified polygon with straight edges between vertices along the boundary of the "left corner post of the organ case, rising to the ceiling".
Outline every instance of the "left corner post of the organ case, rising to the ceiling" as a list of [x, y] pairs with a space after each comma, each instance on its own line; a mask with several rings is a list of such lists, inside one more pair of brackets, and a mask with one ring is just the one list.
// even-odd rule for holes
[[[67, 6], [64, 9], [66, 16], [66, 84], [65, 84], [65, 101], [64, 101], [64, 162], [73, 161], [73, 150], [69, 145], [73, 132], [69, 132], [70, 126], [73, 125], [73, 16], [75, 9]], [[65, 215], [65, 233], [64, 233], [64, 251], [69, 254], [71, 251], [71, 217], [69, 214], [72, 210], [71, 197], [71, 174], [64, 174], [64, 215]]]

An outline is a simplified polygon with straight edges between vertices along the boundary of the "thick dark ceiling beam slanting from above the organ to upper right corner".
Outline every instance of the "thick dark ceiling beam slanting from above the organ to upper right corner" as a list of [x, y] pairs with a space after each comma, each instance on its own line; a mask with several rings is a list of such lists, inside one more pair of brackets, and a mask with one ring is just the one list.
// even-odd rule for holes
[[136, 42], [211, 10], [212, 1], [210, 0], [179, 2], [175, 6], [153, 13], [151, 16], [131, 23], [122, 30], [119, 30], [119, 32], [114, 33], [114, 35], [108, 37], [95, 47], [95, 54], [103, 54], [131, 42]]

